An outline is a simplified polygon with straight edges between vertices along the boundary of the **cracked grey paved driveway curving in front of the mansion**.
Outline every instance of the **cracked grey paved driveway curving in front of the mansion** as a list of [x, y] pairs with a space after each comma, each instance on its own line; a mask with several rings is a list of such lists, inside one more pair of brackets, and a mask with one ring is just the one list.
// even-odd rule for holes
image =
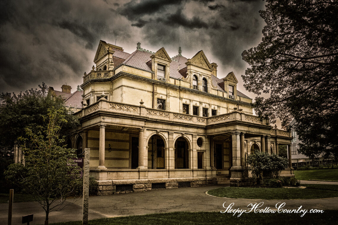
[[[106, 217], [144, 215], [151, 213], [169, 213], [178, 211], [188, 212], [213, 212], [224, 210], [223, 203], [227, 206], [235, 203], [233, 208], [247, 209], [250, 203], [264, 202], [264, 207], [275, 207], [278, 202], [285, 202], [285, 208], [297, 209], [299, 206], [311, 209], [338, 210], [338, 197], [325, 199], [298, 199], [298, 200], [255, 200], [232, 199], [209, 196], [206, 191], [222, 187], [222, 185], [200, 186], [179, 189], [159, 189], [149, 192], [92, 196], [89, 198], [89, 219]], [[43, 224], [45, 212], [36, 202], [14, 203], [13, 224], [21, 224], [21, 217], [34, 214], [32, 224]], [[0, 204], [0, 224], [7, 224], [8, 203]], [[82, 219], [82, 200], [59, 212], [51, 212], [49, 222], [67, 222]]]

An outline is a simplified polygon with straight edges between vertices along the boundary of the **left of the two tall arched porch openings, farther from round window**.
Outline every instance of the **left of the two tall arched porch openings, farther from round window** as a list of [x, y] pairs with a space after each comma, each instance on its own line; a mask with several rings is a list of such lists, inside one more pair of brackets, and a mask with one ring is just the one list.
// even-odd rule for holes
[[148, 141], [148, 168], [164, 169], [164, 140], [160, 135], [153, 135]]

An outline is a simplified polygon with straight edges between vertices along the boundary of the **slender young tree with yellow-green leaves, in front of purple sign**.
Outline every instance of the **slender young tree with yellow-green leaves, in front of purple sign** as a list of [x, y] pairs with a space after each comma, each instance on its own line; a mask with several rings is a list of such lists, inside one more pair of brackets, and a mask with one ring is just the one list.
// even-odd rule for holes
[[[60, 136], [61, 128], [68, 121], [62, 108], [47, 110], [43, 116], [45, 125], [37, 128], [25, 128], [28, 138], [23, 139], [25, 154], [23, 164], [11, 164], [5, 172], [6, 178], [31, 194], [48, 215], [53, 210], [61, 210], [67, 197], [75, 193], [80, 180], [78, 167], [67, 164], [69, 158], [75, 158], [74, 149], [66, 148], [64, 137]], [[30, 147], [27, 147], [30, 146]]]

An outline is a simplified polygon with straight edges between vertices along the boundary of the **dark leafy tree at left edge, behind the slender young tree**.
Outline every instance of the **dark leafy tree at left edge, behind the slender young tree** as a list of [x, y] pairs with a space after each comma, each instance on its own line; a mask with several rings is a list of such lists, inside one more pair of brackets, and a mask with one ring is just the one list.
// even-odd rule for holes
[[[60, 135], [69, 135], [79, 124], [76, 117], [70, 115], [63, 107], [64, 101], [60, 98], [52, 99], [47, 95], [48, 87], [42, 83], [39, 89], [30, 89], [18, 95], [1, 93], [0, 105], [0, 150], [4, 155], [10, 155], [14, 145], [22, 145], [18, 137], [27, 137], [25, 128], [33, 130], [44, 124], [44, 116], [51, 107], [63, 108], [63, 115], [68, 121], [63, 125]], [[22, 139], [23, 140], [23, 139]]]

